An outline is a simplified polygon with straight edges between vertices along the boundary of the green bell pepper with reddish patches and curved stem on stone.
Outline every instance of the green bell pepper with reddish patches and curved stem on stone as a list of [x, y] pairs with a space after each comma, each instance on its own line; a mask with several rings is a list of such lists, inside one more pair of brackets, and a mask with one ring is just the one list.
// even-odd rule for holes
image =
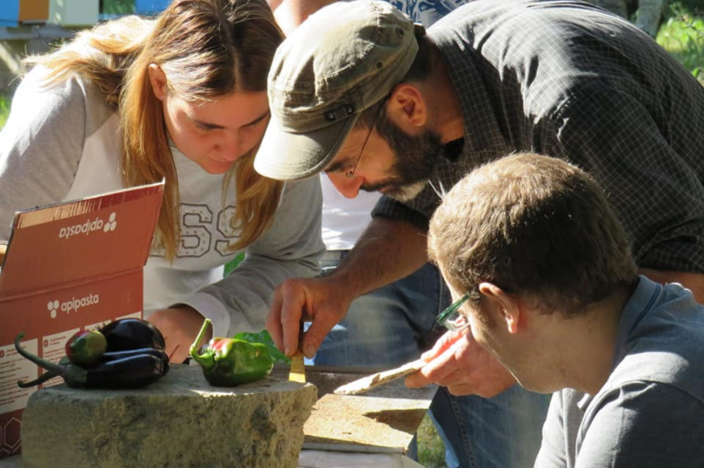
[[234, 338], [215, 337], [198, 352], [198, 343], [210, 320], [203, 327], [196, 341], [191, 345], [190, 355], [203, 369], [203, 377], [212, 386], [231, 387], [263, 379], [274, 367], [267, 347], [262, 343], [249, 343]]

